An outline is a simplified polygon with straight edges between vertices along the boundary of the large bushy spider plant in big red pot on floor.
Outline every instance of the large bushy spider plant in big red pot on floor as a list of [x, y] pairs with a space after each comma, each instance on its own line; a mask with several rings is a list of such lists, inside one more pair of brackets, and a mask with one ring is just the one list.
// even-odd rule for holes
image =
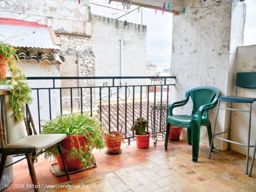
[[[41, 134], [65, 133], [67, 137], [61, 141], [64, 160], [69, 172], [87, 169], [95, 164], [92, 153], [94, 148], [105, 147], [101, 122], [95, 117], [85, 114], [71, 113], [59, 115], [57, 118], [44, 121]], [[54, 156], [61, 170], [64, 166], [57, 148], [45, 152], [45, 159]]]

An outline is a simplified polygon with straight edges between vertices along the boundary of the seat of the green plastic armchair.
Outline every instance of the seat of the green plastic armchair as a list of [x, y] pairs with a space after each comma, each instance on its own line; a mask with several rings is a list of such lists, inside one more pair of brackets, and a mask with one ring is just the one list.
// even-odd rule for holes
[[[168, 116], [168, 122], [173, 122], [177, 124], [189, 125], [191, 120], [196, 120], [197, 116], [195, 115], [172, 115]], [[208, 118], [202, 116], [202, 123], [209, 122]]]

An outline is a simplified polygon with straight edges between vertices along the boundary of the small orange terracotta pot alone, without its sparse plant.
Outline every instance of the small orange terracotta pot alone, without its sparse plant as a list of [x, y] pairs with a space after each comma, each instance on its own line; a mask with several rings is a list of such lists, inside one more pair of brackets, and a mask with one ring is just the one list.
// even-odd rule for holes
[[[117, 132], [108, 132], [109, 134], [115, 134]], [[123, 134], [118, 136], [107, 136], [104, 135], [108, 153], [118, 153], [121, 148], [121, 142], [123, 139]]]

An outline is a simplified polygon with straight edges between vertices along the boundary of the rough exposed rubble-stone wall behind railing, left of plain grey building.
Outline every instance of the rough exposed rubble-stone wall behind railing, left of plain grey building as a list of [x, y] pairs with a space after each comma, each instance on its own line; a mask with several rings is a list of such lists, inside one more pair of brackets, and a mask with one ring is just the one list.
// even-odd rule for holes
[[[62, 77], [78, 77], [78, 76], [94, 76], [94, 52], [90, 38], [82, 35], [57, 34], [61, 42], [61, 53], [66, 62], [61, 66]], [[95, 81], [91, 79], [83, 80], [62, 80], [62, 87], [70, 86], [94, 86]], [[81, 90], [73, 90], [73, 108], [78, 110], [81, 108]], [[94, 104], [94, 89], [93, 101]], [[70, 90], [63, 90], [62, 93], [63, 110], [70, 110]], [[90, 89], [82, 89], [83, 109], [90, 108]], [[93, 106], [94, 107], [94, 106]]]

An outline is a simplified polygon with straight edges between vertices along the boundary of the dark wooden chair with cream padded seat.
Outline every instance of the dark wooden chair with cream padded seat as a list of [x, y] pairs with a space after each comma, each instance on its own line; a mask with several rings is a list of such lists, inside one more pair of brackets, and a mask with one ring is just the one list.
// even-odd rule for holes
[[[9, 96], [8, 95], [9, 92], [5, 91], [0, 91], [0, 95], [4, 95], [2, 96], [2, 106], [4, 106], [3, 108], [7, 111], [6, 108], [8, 108], [8, 100], [9, 100]], [[0, 118], [0, 144], [1, 144], [1, 148], [0, 148], [0, 153], [2, 154], [2, 158], [1, 158], [1, 162], [0, 162], [0, 180], [2, 178], [3, 172], [4, 172], [4, 168], [13, 165], [14, 163], [22, 160], [18, 160], [10, 165], [5, 166], [6, 163], [6, 159], [7, 159], [7, 155], [14, 155], [14, 154], [25, 154], [26, 158], [23, 159], [27, 159], [27, 165], [28, 165], [28, 169], [29, 169], [29, 173], [32, 179], [32, 182], [34, 184], [34, 186], [38, 186], [37, 185], [37, 180], [36, 180], [36, 175], [35, 175], [35, 170], [34, 170], [34, 159], [36, 156], [42, 154], [43, 152], [46, 152], [47, 150], [51, 149], [52, 147], [58, 147], [60, 155], [61, 155], [61, 160], [62, 163], [64, 165], [65, 168], [65, 172], [67, 175], [67, 180], [70, 181], [70, 177], [67, 171], [67, 166], [65, 164], [65, 161], [63, 159], [63, 152], [61, 149], [61, 140], [66, 138], [67, 135], [66, 134], [42, 134], [42, 135], [38, 135], [36, 130], [35, 130], [35, 126], [34, 126], [34, 122], [33, 122], [33, 118], [31, 115], [31, 112], [29, 110], [28, 105], [26, 104], [26, 108], [27, 108], [27, 113], [28, 113], [28, 122], [26, 119], [24, 119], [25, 121], [25, 125], [26, 125], [26, 131], [27, 131], [27, 136], [22, 135], [22, 134], [18, 134], [18, 139], [7, 139], [6, 135], [4, 135], [4, 132], [6, 134], [15, 134], [17, 135], [17, 132], [24, 132], [24, 128], [23, 126], [19, 126], [18, 128], [15, 126], [15, 129], [13, 127], [8, 127], [8, 131], [5, 130], [6, 126], [3, 126], [2, 124], [2, 119]], [[8, 109], [9, 111], [12, 112], [12, 110]], [[10, 118], [10, 113], [8, 114], [5, 111], [5, 118]], [[13, 113], [13, 112], [12, 112]], [[13, 114], [11, 114], [13, 115]], [[1, 114], [0, 114], [1, 117]], [[13, 119], [14, 120], [14, 119]], [[32, 131], [29, 130], [30, 127], [30, 123], [32, 125], [33, 128], [33, 132], [34, 135], [32, 135]], [[12, 129], [13, 128], [13, 129]], [[23, 130], [21, 130], [23, 129]], [[34, 191], [38, 192], [38, 188], [34, 187]]]

